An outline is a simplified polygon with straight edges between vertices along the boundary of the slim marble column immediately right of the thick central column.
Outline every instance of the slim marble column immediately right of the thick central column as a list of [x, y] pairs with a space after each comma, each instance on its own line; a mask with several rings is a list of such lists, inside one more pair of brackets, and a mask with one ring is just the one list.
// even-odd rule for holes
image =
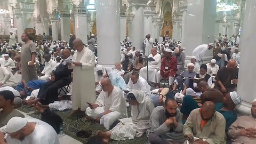
[[[123, 7], [125, 8], [125, 7]], [[120, 40], [123, 41], [126, 36], [126, 9], [120, 10]]]

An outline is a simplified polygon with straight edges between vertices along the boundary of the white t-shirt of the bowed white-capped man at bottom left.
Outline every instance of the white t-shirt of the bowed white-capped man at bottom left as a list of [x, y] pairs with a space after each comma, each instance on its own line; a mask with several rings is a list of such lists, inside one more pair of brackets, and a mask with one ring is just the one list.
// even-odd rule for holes
[[22, 144], [59, 144], [58, 134], [53, 127], [39, 119], [27, 118], [28, 122], [35, 122], [35, 130], [21, 141]]

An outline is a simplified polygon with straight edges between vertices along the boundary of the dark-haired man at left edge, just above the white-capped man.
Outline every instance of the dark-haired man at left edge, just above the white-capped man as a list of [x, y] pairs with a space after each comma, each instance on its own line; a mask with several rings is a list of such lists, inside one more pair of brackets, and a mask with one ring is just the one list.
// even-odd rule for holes
[[18, 110], [13, 108], [14, 94], [11, 91], [0, 91], [0, 127], [14, 116], [25, 117]]

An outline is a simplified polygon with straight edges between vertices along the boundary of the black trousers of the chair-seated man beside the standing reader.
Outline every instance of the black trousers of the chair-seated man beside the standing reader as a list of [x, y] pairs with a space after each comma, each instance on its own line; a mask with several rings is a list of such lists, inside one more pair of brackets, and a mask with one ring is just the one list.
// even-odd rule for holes
[[54, 82], [48, 81], [43, 84], [38, 92], [37, 98], [43, 105], [49, 105], [58, 100], [58, 89], [71, 83], [71, 77], [63, 77]]

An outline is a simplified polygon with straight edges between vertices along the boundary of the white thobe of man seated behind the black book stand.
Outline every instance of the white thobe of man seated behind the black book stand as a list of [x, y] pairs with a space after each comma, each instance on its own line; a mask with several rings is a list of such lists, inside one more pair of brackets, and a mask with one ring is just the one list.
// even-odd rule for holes
[[156, 83], [157, 82], [157, 71], [161, 68], [161, 55], [157, 53], [156, 55], [149, 54], [148, 57], [152, 57], [155, 61], [148, 62], [148, 78], [147, 79], [147, 67], [143, 67], [140, 69], [140, 77], [147, 79], [149, 82]]

